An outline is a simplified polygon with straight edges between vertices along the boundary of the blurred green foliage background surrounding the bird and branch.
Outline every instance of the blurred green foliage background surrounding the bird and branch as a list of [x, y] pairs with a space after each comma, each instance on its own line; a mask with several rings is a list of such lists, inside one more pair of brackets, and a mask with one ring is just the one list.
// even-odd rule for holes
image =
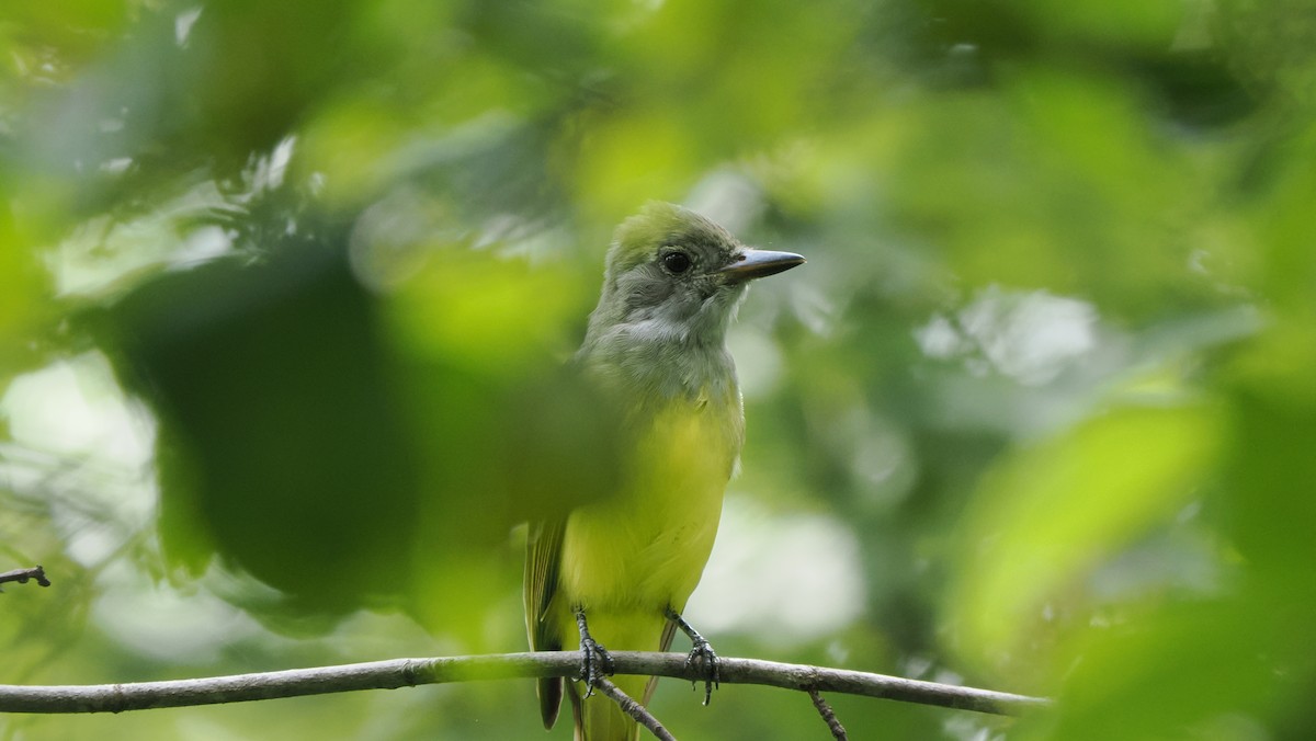
[[[832, 698], [855, 738], [1316, 736], [1309, 3], [11, 1], [0, 47], [0, 570], [54, 582], [0, 682], [524, 650], [517, 523], [612, 476], [559, 367], [662, 199], [809, 259], [730, 337], [720, 653], [1058, 700]], [[570, 736], [529, 680], [0, 729]]]

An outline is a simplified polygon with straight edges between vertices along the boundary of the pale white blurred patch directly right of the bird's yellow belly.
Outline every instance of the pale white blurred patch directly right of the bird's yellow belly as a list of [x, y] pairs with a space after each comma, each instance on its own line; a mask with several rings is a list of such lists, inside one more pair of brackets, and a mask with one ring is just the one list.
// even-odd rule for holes
[[729, 495], [686, 615], [701, 632], [809, 641], [858, 619], [865, 599], [859, 542], [841, 521]]

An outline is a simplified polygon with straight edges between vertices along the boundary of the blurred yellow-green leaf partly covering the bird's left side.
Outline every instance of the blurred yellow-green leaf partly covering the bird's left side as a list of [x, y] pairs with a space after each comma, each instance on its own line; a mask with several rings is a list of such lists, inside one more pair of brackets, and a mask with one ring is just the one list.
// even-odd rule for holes
[[592, 291], [551, 265], [450, 246], [388, 301], [397, 382], [420, 451], [416, 608], [479, 641], [504, 587], [491, 551], [519, 523], [562, 517], [617, 480], [621, 420], [572, 367]]

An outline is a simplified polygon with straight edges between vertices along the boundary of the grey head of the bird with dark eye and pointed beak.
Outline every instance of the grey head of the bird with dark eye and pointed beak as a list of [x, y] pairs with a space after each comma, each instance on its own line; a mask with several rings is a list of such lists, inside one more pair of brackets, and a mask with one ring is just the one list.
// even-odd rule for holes
[[803, 262], [794, 253], [746, 247], [692, 211], [653, 201], [617, 228], [590, 333], [625, 326], [653, 338], [720, 344], [750, 280]]

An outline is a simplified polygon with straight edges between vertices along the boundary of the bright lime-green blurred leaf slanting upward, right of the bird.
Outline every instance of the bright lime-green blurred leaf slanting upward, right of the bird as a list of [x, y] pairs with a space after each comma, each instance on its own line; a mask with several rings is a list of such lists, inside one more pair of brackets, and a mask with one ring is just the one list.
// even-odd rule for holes
[[961, 650], [1028, 655], [1044, 603], [1187, 501], [1219, 436], [1208, 407], [1120, 407], [1000, 459], [966, 513], [949, 603]]

